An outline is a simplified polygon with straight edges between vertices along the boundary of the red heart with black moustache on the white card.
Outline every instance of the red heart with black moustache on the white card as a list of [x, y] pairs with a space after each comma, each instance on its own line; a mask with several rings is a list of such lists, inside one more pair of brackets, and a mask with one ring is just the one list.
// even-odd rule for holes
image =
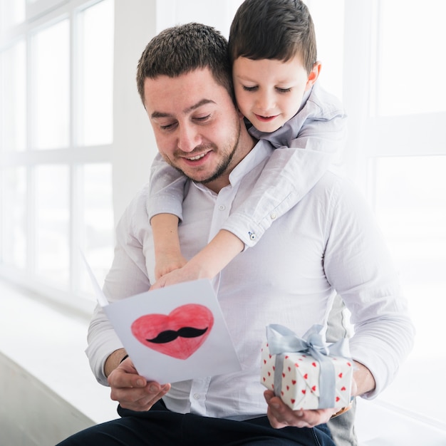
[[146, 347], [172, 358], [187, 359], [206, 341], [213, 325], [214, 316], [209, 308], [187, 304], [167, 315], [141, 316], [132, 323], [131, 329], [133, 336]]

